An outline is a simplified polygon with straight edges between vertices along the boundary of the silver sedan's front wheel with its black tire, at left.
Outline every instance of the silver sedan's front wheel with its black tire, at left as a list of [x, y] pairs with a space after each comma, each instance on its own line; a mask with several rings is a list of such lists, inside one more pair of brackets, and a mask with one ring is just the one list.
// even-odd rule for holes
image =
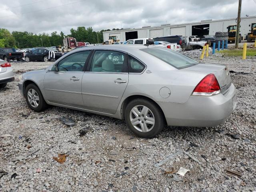
[[[36, 112], [40, 112], [47, 108], [44, 97], [42, 96], [41, 91], [35, 84], [28, 84], [28, 86], [26, 86], [25, 98], [29, 108]], [[32, 102], [32, 104], [30, 104], [30, 102]]]

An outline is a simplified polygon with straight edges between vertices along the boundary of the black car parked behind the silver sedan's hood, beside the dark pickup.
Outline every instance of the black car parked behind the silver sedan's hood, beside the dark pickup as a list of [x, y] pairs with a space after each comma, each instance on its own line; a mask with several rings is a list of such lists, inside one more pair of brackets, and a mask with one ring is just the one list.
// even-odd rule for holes
[[[54, 52], [54, 54], [52, 52]], [[49, 55], [50, 52], [50, 55]], [[58, 58], [60, 58], [62, 56], [61, 52], [56, 50], [56, 49], [52, 49], [52, 48], [37, 48], [32, 50], [30, 53], [27, 53], [25, 55], [25, 60], [26, 61], [45, 61], [48, 62], [49, 60], [57, 60]], [[50, 59], [49, 59], [50, 57]]]

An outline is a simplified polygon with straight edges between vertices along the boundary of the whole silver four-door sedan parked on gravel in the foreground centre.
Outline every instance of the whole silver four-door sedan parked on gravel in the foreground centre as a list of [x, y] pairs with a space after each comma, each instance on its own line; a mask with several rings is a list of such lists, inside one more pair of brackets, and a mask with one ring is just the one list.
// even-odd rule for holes
[[236, 106], [225, 65], [154, 45], [79, 48], [26, 72], [19, 88], [32, 110], [54, 105], [124, 119], [144, 138], [166, 125], [217, 126]]

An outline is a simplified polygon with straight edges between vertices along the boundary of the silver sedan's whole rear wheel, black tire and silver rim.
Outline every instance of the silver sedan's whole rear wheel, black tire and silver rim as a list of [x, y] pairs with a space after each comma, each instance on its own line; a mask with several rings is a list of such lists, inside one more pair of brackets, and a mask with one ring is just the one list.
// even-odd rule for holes
[[[128, 103], [125, 108], [124, 118], [130, 130], [142, 138], [156, 136], [166, 125], [164, 114], [159, 106], [142, 98], [134, 99]], [[132, 119], [138, 119], [134, 122], [134, 125], [131, 122]], [[147, 123], [147, 121], [150, 123]], [[144, 132], [140, 125], [144, 126]]]

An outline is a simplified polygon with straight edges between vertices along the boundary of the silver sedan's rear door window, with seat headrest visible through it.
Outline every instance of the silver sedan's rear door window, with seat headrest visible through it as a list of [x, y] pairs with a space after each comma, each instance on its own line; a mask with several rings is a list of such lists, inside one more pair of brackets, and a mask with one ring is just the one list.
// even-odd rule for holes
[[92, 58], [91, 72], [120, 73], [126, 70], [125, 54], [117, 51], [96, 50]]

